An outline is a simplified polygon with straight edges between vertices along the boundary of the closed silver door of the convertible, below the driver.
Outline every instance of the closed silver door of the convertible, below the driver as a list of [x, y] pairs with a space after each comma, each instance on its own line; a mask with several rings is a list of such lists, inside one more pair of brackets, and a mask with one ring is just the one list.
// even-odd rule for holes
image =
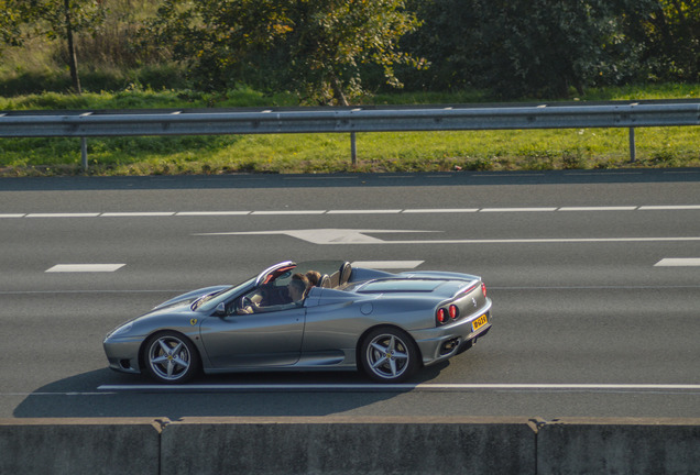
[[212, 316], [201, 341], [216, 368], [288, 366], [299, 360], [306, 309]]

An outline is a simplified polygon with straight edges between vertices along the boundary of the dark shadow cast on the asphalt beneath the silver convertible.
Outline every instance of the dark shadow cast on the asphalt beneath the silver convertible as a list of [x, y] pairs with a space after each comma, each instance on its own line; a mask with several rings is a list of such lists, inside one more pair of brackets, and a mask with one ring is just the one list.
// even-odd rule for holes
[[[449, 362], [444, 362], [424, 368], [406, 384], [429, 382], [448, 365]], [[358, 372], [208, 375], [186, 386], [154, 388], [153, 382], [143, 376], [97, 369], [42, 386], [19, 404], [13, 416], [177, 420], [185, 417], [329, 416], [359, 408], [379, 416], [381, 402], [414, 390], [372, 384]], [[373, 405], [378, 405], [376, 408], [371, 408]]]

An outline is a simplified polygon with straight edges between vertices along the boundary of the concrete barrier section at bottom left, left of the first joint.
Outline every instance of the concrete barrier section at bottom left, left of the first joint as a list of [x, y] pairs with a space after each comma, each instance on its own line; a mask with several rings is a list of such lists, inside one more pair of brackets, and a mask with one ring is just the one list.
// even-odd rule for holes
[[0, 474], [158, 475], [153, 419], [0, 419]]

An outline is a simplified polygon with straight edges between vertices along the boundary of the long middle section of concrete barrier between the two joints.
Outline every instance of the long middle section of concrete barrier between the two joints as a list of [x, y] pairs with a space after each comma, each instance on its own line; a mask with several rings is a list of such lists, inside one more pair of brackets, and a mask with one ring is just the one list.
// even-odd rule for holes
[[161, 465], [168, 475], [533, 474], [534, 448], [525, 418], [199, 418], [164, 429]]

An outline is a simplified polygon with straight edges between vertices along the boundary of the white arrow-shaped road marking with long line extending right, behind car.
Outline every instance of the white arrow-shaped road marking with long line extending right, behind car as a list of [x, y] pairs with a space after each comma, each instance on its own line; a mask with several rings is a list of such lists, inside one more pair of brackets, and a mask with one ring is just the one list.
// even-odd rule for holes
[[700, 236], [687, 238], [547, 238], [519, 240], [417, 240], [417, 241], [384, 241], [367, 233], [427, 233], [440, 231], [419, 230], [352, 230], [352, 229], [309, 229], [283, 231], [248, 231], [196, 233], [193, 235], [288, 235], [313, 244], [572, 244], [572, 243], [625, 243], [625, 242], [683, 242], [700, 241]]

